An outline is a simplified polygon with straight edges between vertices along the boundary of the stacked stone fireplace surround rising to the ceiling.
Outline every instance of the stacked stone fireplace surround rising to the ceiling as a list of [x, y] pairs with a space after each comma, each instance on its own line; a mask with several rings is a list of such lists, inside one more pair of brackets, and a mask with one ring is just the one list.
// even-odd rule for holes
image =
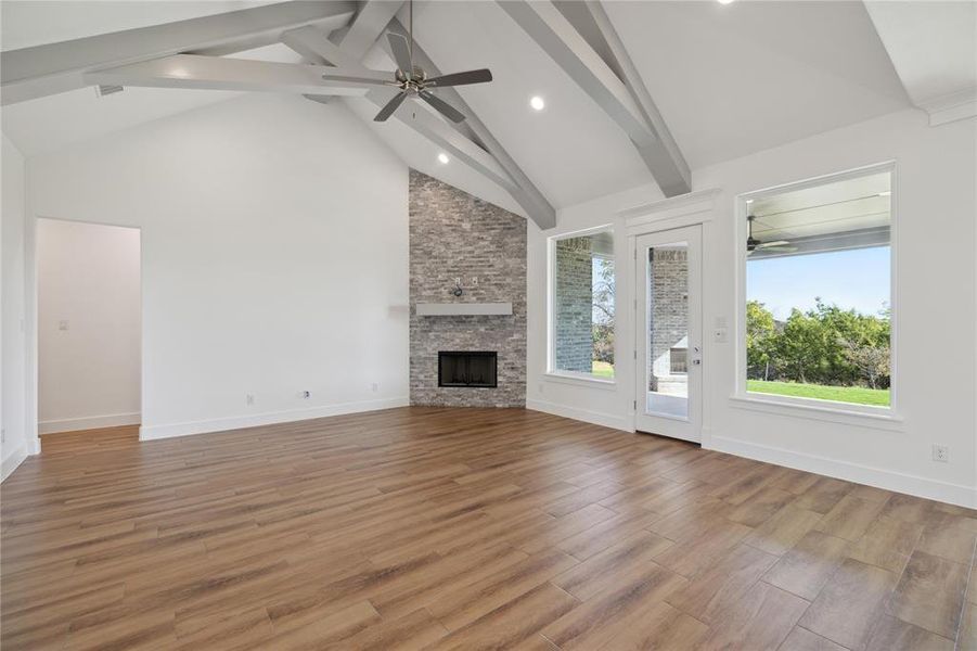
[[[465, 293], [451, 294], [462, 278]], [[471, 285], [478, 279], [477, 286]], [[419, 317], [417, 303], [512, 303], [512, 316]], [[410, 171], [412, 405], [526, 405], [526, 220]], [[438, 387], [438, 350], [496, 350], [497, 388]]]

